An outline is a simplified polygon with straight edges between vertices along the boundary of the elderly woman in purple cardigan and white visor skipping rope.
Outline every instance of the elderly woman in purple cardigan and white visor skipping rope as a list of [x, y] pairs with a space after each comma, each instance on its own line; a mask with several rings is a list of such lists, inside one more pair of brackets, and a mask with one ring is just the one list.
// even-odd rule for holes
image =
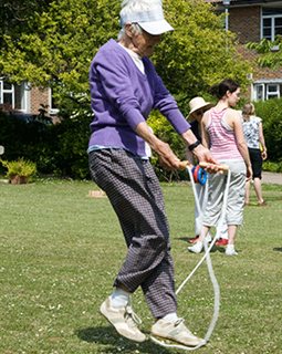
[[[174, 30], [164, 18], [161, 1], [123, 1], [121, 25], [117, 41], [105, 43], [90, 67], [94, 112], [87, 150], [90, 171], [106, 192], [127, 246], [114, 291], [100, 311], [121, 335], [145, 341], [130, 305], [132, 294], [140, 287], [155, 319], [152, 334], [196, 346], [202, 340], [177, 313], [168, 220], [145, 142], [167, 168], [178, 169], [181, 162], [149, 129], [146, 119], [150, 111], [158, 110], [170, 122], [198, 160], [216, 160], [191, 132], [149, 60], [161, 34]], [[210, 171], [218, 169], [209, 166]]]

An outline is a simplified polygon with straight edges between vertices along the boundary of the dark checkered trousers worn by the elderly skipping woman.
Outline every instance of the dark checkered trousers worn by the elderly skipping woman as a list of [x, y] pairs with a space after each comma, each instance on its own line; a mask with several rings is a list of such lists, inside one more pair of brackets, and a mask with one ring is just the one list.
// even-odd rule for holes
[[90, 153], [93, 180], [118, 217], [127, 254], [114, 287], [138, 287], [155, 319], [176, 312], [168, 221], [158, 178], [148, 160], [123, 149]]

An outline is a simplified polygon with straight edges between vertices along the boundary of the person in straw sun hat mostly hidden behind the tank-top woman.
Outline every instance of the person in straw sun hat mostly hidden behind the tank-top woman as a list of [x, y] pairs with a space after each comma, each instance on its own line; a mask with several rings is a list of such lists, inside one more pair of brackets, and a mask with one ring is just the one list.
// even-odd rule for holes
[[[190, 107], [190, 112], [187, 118], [191, 124], [192, 133], [198, 138], [198, 140], [201, 142], [201, 131], [200, 131], [201, 118], [203, 113], [207, 110], [212, 107], [212, 104], [210, 102], [206, 102], [202, 97], [197, 96], [189, 101], [189, 107]], [[186, 149], [186, 157], [192, 165], [196, 165], [198, 163], [195, 156], [191, 154], [191, 152], [188, 148]], [[208, 180], [207, 180], [207, 184], [208, 184]], [[201, 230], [202, 212], [206, 208], [207, 198], [208, 198], [207, 186], [195, 184], [195, 187], [196, 187], [199, 205], [201, 207], [201, 212], [199, 212], [199, 210], [195, 205], [195, 237], [188, 239], [188, 242], [190, 243], [196, 243], [199, 239], [199, 235]], [[217, 238], [218, 240], [216, 241], [216, 246], [226, 246], [228, 243], [228, 229], [226, 223], [223, 223], [220, 228], [217, 228]], [[208, 241], [211, 240], [210, 235], [207, 236], [207, 240]]]

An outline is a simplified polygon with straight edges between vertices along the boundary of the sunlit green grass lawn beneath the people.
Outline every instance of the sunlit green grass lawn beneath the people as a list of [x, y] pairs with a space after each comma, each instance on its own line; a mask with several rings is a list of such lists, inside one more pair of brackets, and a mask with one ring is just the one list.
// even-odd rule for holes
[[[0, 183], [0, 353], [86, 354], [169, 351], [128, 342], [98, 313], [125, 256], [107, 198], [91, 198], [90, 181]], [[194, 236], [189, 184], [163, 185], [171, 229], [176, 285], [200, 254]], [[205, 354], [282, 353], [282, 186], [263, 185], [267, 207], [249, 206], [239, 230], [238, 257], [212, 252], [221, 290], [219, 320]], [[206, 264], [179, 293], [179, 315], [206, 334], [213, 291]], [[134, 308], [149, 333], [153, 320], [140, 291]]]

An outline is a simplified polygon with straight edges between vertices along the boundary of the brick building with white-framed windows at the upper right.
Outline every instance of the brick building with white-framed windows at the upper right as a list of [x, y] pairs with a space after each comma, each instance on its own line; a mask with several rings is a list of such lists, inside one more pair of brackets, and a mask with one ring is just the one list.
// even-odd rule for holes
[[[216, 6], [217, 11], [226, 13], [226, 25], [238, 35], [240, 53], [252, 62], [250, 73], [252, 101], [282, 96], [282, 69], [270, 70], [255, 64], [258, 54], [248, 50], [246, 43], [261, 39], [273, 41], [282, 34], [282, 1], [276, 0], [206, 0]], [[276, 48], [273, 46], [273, 51]]]

